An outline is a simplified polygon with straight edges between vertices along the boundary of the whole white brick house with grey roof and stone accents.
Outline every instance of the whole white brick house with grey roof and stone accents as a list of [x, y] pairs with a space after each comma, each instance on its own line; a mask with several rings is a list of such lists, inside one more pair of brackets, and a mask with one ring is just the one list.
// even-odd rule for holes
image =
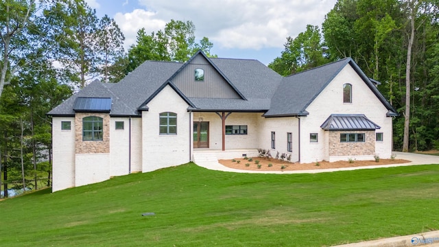
[[53, 191], [269, 149], [311, 163], [392, 155], [396, 111], [351, 58], [282, 77], [257, 60], [147, 61], [51, 110]]

